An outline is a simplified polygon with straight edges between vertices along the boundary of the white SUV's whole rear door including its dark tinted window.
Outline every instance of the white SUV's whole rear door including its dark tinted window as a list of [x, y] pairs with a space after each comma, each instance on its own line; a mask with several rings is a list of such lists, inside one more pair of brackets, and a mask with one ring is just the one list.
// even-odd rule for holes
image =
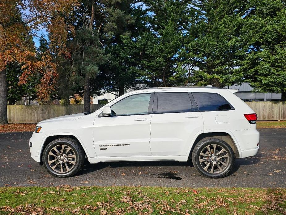
[[188, 92], [155, 93], [151, 119], [152, 156], [185, 156], [194, 135], [203, 130]]

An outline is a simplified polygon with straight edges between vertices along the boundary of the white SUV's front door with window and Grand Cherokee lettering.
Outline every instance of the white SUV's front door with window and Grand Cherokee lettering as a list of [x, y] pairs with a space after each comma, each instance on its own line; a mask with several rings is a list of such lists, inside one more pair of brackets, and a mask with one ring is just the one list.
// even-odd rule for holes
[[153, 97], [151, 93], [127, 96], [111, 106], [112, 116], [96, 117], [93, 141], [98, 157], [151, 155]]

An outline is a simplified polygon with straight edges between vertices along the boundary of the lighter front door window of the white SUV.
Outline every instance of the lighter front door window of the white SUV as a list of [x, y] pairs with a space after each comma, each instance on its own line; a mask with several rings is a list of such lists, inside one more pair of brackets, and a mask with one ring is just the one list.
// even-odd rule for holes
[[148, 113], [151, 93], [137, 94], [126, 97], [112, 105], [116, 116], [137, 115]]

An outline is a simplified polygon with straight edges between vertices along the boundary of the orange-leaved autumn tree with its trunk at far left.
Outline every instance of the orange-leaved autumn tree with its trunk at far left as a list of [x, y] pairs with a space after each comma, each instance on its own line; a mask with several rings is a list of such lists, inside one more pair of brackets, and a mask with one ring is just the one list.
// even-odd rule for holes
[[[38, 97], [45, 101], [53, 90], [57, 78], [55, 64], [50, 55], [45, 55], [39, 61], [36, 50], [31, 46], [30, 38], [34, 30], [48, 26], [49, 31], [63, 32], [66, 24], [53, 25], [54, 20], [60, 20], [58, 14], [68, 14], [77, 5], [76, 0], [6, 0], [0, 3], [0, 124], [7, 120], [7, 80], [6, 67], [18, 62], [23, 73], [19, 84], [25, 84], [35, 73], [41, 73], [42, 78], [37, 87]], [[64, 35], [55, 38], [58, 54], [66, 55]]]

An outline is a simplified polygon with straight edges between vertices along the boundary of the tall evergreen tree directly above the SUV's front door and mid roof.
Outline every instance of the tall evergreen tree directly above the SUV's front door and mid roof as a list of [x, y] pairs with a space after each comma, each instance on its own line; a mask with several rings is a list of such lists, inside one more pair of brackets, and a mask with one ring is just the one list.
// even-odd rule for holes
[[130, 58], [149, 86], [170, 86], [180, 61], [184, 23], [189, 14], [187, 1], [143, 1], [147, 15], [146, 30], [133, 38], [125, 37]]

